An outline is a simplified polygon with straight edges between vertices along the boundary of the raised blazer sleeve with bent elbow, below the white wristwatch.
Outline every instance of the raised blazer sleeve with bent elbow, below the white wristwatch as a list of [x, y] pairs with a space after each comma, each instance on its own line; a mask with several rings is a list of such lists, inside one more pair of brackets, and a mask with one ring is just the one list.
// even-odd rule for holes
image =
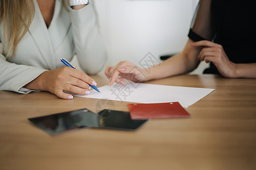
[[75, 52], [81, 69], [87, 74], [98, 73], [107, 59], [92, 3], [80, 10], [70, 8]]

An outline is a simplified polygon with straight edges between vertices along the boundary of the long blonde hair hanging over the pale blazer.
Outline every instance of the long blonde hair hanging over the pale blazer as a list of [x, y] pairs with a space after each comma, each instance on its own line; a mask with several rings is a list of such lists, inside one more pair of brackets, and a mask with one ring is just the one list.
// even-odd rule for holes
[[8, 45], [6, 58], [13, 57], [16, 46], [28, 31], [34, 18], [32, 0], [1, 0], [0, 23], [3, 23], [3, 44]]

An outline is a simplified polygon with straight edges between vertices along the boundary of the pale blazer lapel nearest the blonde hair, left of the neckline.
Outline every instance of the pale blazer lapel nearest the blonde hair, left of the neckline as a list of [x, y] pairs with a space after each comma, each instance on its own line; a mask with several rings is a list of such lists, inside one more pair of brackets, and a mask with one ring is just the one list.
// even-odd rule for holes
[[34, 5], [35, 15], [28, 32], [38, 46], [44, 61], [47, 63], [48, 69], [53, 70], [56, 69], [56, 57], [52, 41], [36, 0], [34, 0]]

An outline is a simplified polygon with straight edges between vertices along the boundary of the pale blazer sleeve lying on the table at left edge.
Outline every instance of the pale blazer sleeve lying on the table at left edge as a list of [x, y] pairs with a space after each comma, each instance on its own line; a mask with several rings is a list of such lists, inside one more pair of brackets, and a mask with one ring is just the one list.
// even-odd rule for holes
[[0, 91], [8, 90], [27, 94], [32, 90], [22, 88], [42, 74], [44, 69], [38, 67], [17, 65], [6, 61], [5, 56], [1, 53], [2, 43], [0, 43]]

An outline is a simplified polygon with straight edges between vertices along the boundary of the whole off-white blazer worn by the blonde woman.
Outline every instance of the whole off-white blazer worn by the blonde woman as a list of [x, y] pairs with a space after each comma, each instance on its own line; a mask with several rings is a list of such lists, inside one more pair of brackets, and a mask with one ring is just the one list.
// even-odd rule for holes
[[[91, 2], [92, 3], [92, 2]], [[6, 59], [0, 44], [0, 90], [26, 94], [22, 87], [46, 70], [63, 67], [59, 58], [69, 61], [77, 54], [81, 69], [96, 74], [106, 61], [97, 17], [92, 4], [69, 11], [56, 0], [51, 25], [47, 29], [36, 0], [35, 16], [30, 28], [19, 42], [14, 57]], [[0, 27], [3, 42], [3, 24]], [[22, 89], [20, 89], [22, 88]]]

